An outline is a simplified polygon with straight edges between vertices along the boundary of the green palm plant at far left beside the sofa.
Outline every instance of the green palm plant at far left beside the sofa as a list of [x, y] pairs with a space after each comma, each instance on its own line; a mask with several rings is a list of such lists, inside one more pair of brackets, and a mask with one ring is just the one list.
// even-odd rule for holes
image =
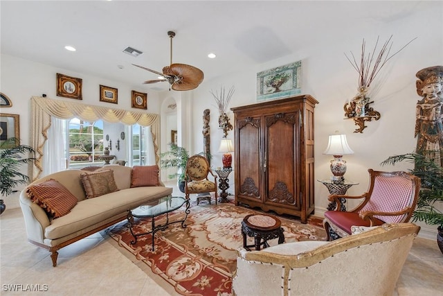
[[[19, 184], [29, 182], [28, 175], [20, 172], [23, 164], [33, 161], [35, 151], [27, 145], [20, 145], [19, 139], [10, 138], [0, 145], [0, 192], [2, 196], [8, 196], [17, 192], [14, 190]], [[0, 200], [0, 214], [6, 209], [3, 200]]]

